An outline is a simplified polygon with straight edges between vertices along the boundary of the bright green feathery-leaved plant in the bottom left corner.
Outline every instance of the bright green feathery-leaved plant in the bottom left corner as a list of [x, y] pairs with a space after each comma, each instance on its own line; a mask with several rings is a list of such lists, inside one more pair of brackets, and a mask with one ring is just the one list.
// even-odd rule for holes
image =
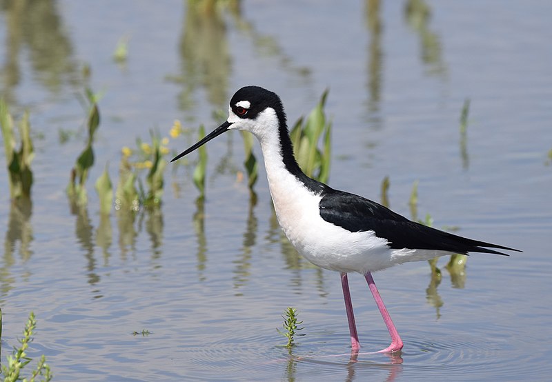
[[32, 361], [27, 356], [26, 351], [32, 342], [32, 334], [35, 328], [37, 328], [37, 320], [34, 318], [34, 313], [30, 312], [29, 319], [23, 330], [23, 338], [18, 339], [19, 346], [14, 346], [12, 354], [8, 355], [7, 365], [2, 365], [4, 381], [50, 381], [52, 379], [52, 372], [50, 371], [50, 366], [46, 363], [46, 356], [44, 355], [40, 357], [37, 367], [34, 368], [30, 377], [28, 379], [21, 378], [23, 368]]

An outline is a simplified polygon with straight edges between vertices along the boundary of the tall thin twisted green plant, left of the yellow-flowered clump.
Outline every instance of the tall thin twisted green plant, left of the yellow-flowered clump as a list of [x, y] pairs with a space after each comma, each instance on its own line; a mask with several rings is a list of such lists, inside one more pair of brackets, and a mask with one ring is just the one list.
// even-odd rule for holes
[[94, 143], [94, 136], [98, 130], [100, 121], [97, 104], [99, 96], [92, 93], [90, 89], [86, 89], [86, 96], [89, 103], [88, 118], [86, 121], [88, 130], [86, 146], [71, 170], [70, 181], [67, 186], [68, 197], [70, 201], [76, 205], [86, 205], [88, 201], [86, 181], [88, 180], [88, 171], [92, 168], [92, 165], [94, 165], [94, 150], [92, 148], [92, 143]]

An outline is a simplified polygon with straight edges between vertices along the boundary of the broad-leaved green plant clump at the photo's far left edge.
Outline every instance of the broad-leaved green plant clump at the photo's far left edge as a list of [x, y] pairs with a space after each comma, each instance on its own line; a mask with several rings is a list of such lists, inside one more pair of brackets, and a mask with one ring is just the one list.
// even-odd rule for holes
[[32, 171], [30, 164], [34, 158], [34, 148], [30, 138], [29, 113], [23, 114], [19, 123], [19, 150], [15, 140], [13, 119], [6, 101], [0, 99], [0, 128], [4, 141], [4, 154], [8, 165], [10, 197], [12, 200], [26, 197], [30, 199]]

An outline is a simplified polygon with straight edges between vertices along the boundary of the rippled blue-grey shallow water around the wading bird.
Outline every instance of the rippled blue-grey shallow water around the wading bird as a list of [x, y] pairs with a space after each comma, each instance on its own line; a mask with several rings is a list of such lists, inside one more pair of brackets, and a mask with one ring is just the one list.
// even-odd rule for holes
[[[46, 354], [57, 381], [548, 379], [552, 5], [435, 1], [416, 24], [404, 2], [368, 12], [370, 3], [244, 1], [240, 12], [206, 14], [180, 1], [2, 6], [1, 94], [16, 120], [30, 110], [37, 152], [30, 212], [10, 205], [0, 174], [2, 358], [34, 310], [29, 354]], [[117, 64], [124, 35], [128, 59]], [[65, 188], [84, 145], [83, 63], [103, 93], [102, 119], [88, 208], [72, 212]], [[251, 203], [237, 176], [239, 134], [209, 143], [204, 203], [193, 168], [170, 165], [159, 211], [100, 216], [93, 184], [108, 162], [116, 183], [123, 146], [156, 126], [166, 135], [179, 119], [193, 132], [169, 145], [183, 150], [248, 84], [275, 90], [290, 123], [330, 89], [333, 187], [380, 201], [388, 176], [391, 208], [412, 217], [419, 180], [420, 219], [524, 252], [474, 254], [455, 277], [442, 259], [438, 285], [425, 262], [375, 274], [404, 350], [351, 360], [339, 277], [290, 248], [262, 165]], [[384, 348], [366, 283], [349, 279], [363, 352]], [[275, 330], [288, 306], [306, 334], [290, 352]]]

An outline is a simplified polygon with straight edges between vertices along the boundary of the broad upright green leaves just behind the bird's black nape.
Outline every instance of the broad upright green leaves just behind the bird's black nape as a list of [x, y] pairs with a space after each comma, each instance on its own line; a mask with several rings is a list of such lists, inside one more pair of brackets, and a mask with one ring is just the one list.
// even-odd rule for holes
[[[324, 113], [324, 105], [328, 97], [328, 90], [322, 93], [319, 103], [308, 115], [295, 123], [290, 131], [293, 143], [293, 154], [303, 172], [322, 182], [327, 182], [330, 174], [331, 159], [331, 121]], [[318, 148], [318, 141], [324, 134], [322, 150]]]

